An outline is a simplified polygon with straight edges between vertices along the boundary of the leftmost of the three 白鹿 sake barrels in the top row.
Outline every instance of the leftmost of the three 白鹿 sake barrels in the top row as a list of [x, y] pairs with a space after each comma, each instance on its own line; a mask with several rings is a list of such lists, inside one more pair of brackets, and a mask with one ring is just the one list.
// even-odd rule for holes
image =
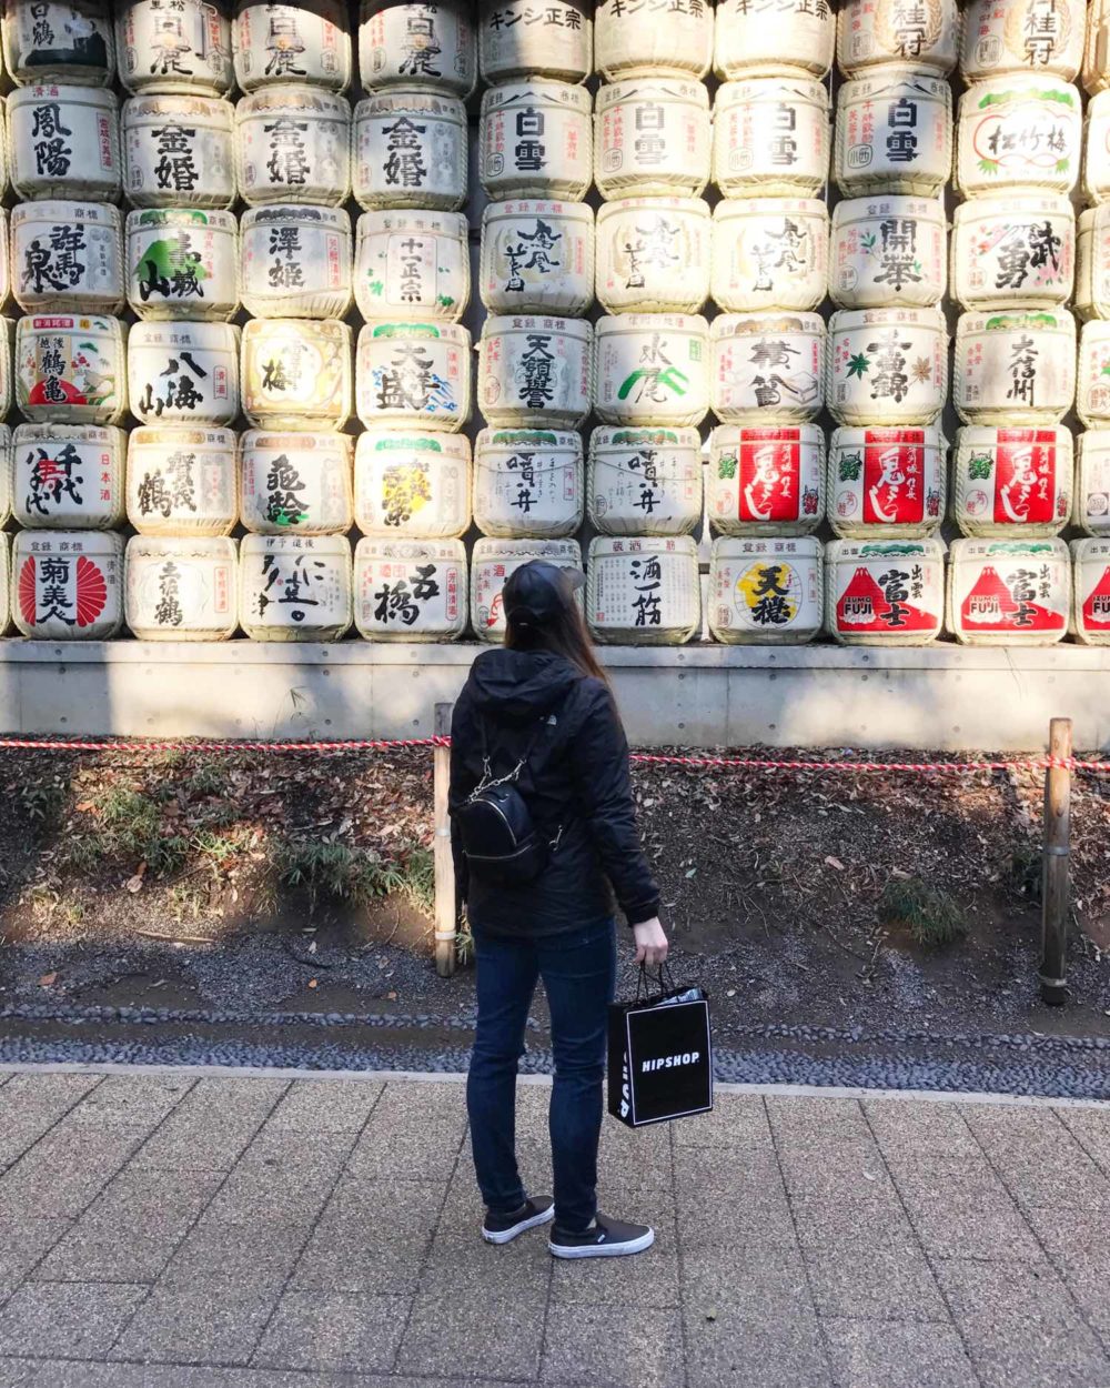
[[234, 86], [225, 0], [121, 0], [115, 12], [119, 81], [133, 96], [228, 96]]

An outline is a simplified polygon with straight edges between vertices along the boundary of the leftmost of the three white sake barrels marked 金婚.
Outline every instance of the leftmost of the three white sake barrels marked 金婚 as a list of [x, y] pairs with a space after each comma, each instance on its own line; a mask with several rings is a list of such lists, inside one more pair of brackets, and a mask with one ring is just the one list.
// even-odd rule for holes
[[123, 192], [132, 207], [234, 203], [234, 107], [208, 96], [123, 103]]

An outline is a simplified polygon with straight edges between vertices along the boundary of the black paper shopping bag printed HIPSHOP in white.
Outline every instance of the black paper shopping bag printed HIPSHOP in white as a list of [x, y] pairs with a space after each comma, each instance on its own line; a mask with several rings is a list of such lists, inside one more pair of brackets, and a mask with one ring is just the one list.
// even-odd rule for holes
[[676, 988], [647, 973], [631, 1002], [609, 1006], [609, 1112], [629, 1127], [666, 1123], [713, 1108], [713, 1038], [703, 988]]

